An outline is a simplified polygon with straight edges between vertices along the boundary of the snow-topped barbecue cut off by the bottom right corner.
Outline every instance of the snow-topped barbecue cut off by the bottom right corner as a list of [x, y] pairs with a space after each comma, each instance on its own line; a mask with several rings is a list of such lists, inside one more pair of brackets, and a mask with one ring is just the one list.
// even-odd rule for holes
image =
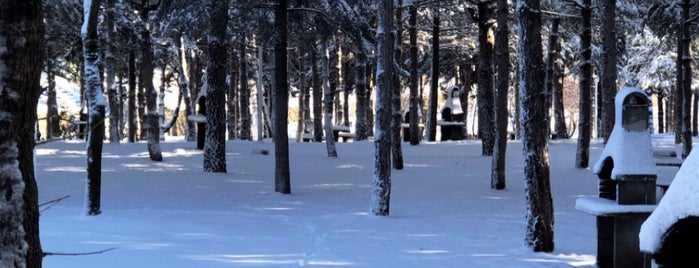
[[658, 208], [641, 226], [641, 251], [660, 267], [697, 267], [699, 241], [699, 153], [677, 171]]

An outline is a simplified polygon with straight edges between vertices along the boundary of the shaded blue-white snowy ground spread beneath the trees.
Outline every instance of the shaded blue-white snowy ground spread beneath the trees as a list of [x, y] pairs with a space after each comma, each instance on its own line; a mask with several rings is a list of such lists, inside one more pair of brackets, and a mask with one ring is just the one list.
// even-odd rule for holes
[[[70, 195], [41, 215], [44, 267], [594, 267], [594, 217], [575, 200], [597, 195], [597, 178], [574, 167], [574, 140], [550, 143], [555, 209], [552, 253], [524, 244], [521, 143], [507, 152], [507, 189], [490, 189], [491, 158], [475, 141], [403, 143], [393, 171], [391, 216], [369, 214], [373, 143], [290, 142], [292, 194], [274, 192], [273, 149], [227, 143], [227, 174], [202, 172], [194, 142], [105, 144], [102, 214], [83, 216], [85, 144], [37, 147], [40, 202]], [[602, 144], [593, 142], [590, 166]], [[659, 168], [672, 178], [677, 168]]]

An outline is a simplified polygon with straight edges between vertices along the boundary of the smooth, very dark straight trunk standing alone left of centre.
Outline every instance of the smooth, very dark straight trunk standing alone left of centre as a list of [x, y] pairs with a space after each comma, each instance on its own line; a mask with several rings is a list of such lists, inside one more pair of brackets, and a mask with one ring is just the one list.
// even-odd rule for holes
[[279, 0], [275, 8], [274, 28], [277, 38], [274, 40], [274, 191], [282, 194], [291, 193], [289, 172], [289, 81], [287, 80], [287, 2]]

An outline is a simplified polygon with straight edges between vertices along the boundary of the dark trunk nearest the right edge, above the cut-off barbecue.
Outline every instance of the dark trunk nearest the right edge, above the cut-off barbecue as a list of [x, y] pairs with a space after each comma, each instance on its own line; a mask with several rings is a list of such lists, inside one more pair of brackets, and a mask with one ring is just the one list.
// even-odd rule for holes
[[682, 158], [687, 158], [692, 151], [692, 56], [690, 46], [690, 0], [682, 1]]

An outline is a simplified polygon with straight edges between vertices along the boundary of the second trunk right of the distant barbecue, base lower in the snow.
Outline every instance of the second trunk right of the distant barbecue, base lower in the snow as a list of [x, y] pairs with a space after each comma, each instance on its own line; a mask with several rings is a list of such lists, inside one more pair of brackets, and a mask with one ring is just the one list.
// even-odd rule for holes
[[493, 146], [493, 163], [490, 187], [505, 189], [505, 158], [507, 153], [507, 93], [510, 88], [510, 28], [508, 26], [509, 8], [507, 0], [497, 2], [498, 29], [495, 36], [495, 53], [497, 67], [497, 88], [495, 90], [495, 144]]

